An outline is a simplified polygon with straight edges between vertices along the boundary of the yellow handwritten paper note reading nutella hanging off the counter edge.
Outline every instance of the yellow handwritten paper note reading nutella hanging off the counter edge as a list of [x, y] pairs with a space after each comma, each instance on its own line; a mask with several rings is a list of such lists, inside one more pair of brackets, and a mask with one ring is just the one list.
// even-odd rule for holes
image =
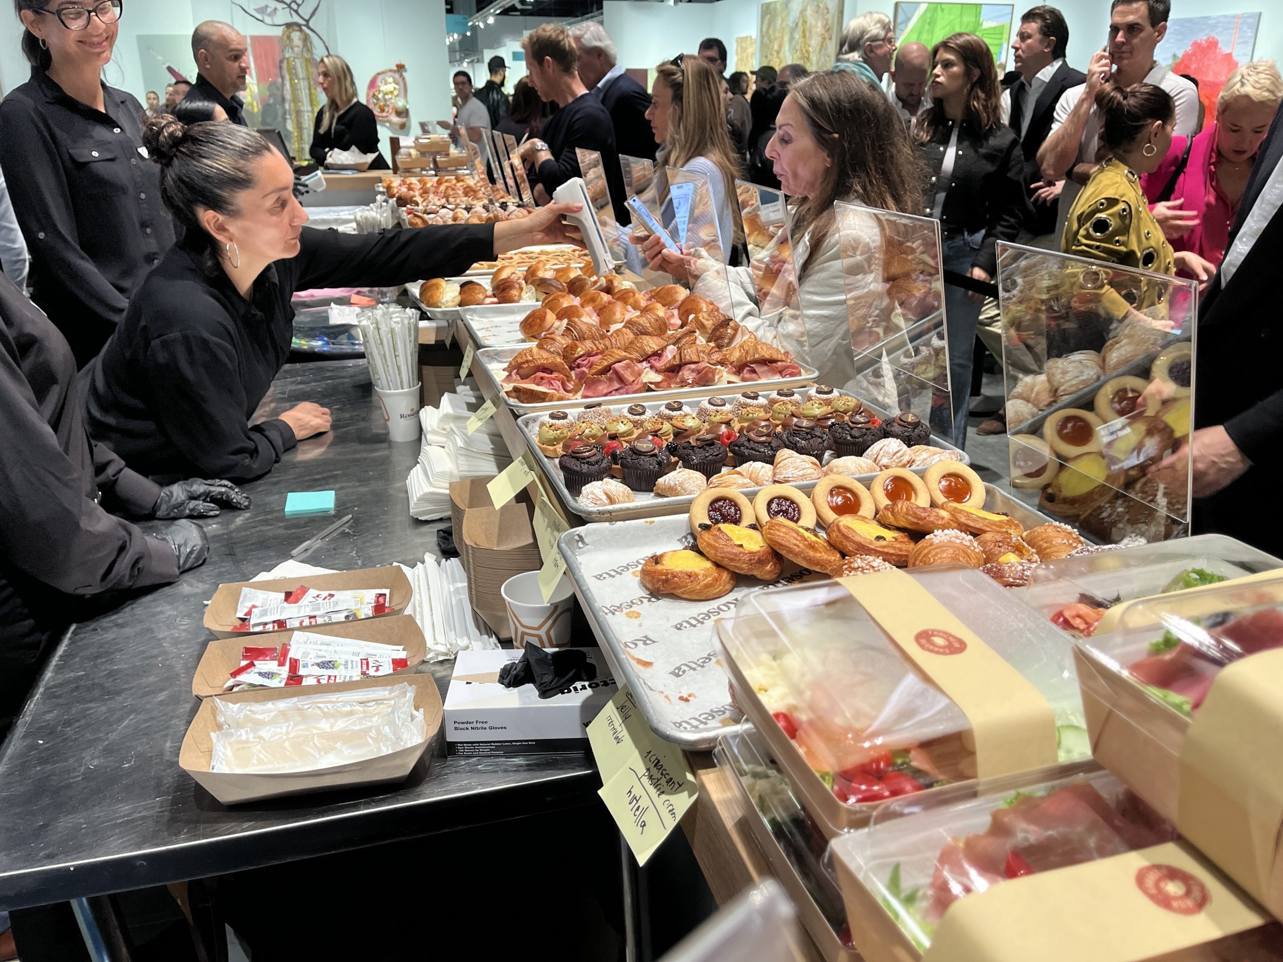
[[602, 775], [597, 794], [645, 865], [698, 795], [685, 755], [650, 731], [627, 685], [589, 722], [588, 741]]

